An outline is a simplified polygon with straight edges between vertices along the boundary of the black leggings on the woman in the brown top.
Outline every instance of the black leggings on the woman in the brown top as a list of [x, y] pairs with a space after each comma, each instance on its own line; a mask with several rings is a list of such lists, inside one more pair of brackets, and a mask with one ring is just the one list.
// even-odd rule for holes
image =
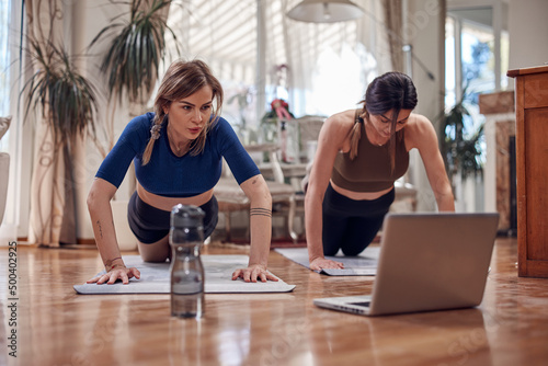
[[323, 197], [323, 255], [357, 255], [369, 245], [393, 202], [393, 188], [376, 199], [351, 199], [331, 184]]

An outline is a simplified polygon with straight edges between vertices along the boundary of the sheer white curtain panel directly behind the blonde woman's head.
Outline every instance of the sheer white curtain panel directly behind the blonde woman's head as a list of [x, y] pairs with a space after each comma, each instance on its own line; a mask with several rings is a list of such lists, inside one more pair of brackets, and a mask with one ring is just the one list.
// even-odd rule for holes
[[[176, 58], [206, 61], [225, 89], [222, 116], [240, 138], [256, 127], [256, 1], [183, 0], [170, 8], [165, 67]], [[162, 72], [161, 72], [162, 73]]]

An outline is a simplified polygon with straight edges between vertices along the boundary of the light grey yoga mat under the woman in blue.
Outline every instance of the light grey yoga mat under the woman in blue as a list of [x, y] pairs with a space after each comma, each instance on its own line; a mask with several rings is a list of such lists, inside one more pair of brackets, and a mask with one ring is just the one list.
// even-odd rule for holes
[[[232, 281], [232, 272], [247, 267], [248, 261], [248, 255], [202, 255], [205, 271], [205, 291], [207, 294], [288, 293], [295, 288], [295, 285], [288, 285], [279, 277], [278, 282], [267, 281], [266, 283], [247, 283], [241, 278]], [[75, 285], [75, 290], [82, 295], [170, 293], [169, 262], [145, 263], [140, 255], [124, 255], [124, 263], [128, 267], [139, 270], [140, 279], [130, 278], [127, 285], [122, 284], [122, 282], [116, 282], [113, 285]]]

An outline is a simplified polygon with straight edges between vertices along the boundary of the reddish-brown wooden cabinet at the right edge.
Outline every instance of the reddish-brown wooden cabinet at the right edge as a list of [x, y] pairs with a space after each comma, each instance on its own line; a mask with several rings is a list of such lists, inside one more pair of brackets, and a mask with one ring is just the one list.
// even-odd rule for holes
[[518, 275], [548, 278], [548, 66], [515, 78]]

